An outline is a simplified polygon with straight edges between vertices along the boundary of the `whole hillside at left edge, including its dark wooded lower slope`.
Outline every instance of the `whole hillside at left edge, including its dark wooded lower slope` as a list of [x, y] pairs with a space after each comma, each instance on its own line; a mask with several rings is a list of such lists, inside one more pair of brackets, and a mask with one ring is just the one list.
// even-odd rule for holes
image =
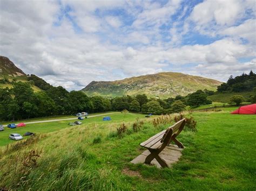
[[31, 74], [26, 75], [9, 58], [0, 55], [0, 88], [11, 87], [12, 81], [30, 82], [35, 91], [47, 90], [51, 84]]

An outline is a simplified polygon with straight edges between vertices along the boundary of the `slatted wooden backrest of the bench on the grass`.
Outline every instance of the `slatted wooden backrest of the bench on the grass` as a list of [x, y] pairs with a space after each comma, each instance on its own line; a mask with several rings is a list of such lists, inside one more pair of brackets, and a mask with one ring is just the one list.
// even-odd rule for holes
[[172, 137], [177, 137], [183, 130], [184, 125], [185, 118], [170, 126], [170, 128], [165, 131], [163, 138], [161, 138], [161, 143], [169, 143]]

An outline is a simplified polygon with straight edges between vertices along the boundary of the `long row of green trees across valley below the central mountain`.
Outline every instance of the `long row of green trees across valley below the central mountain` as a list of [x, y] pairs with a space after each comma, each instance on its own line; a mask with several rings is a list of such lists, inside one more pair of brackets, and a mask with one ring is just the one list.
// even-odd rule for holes
[[[33, 82], [37, 83], [34, 78]], [[39, 81], [40, 82], [40, 81]], [[148, 98], [145, 94], [106, 98], [88, 97], [82, 91], [67, 91], [63, 87], [45, 86], [44, 91], [33, 91], [31, 82], [14, 82], [11, 88], [0, 89], [0, 119], [14, 120], [53, 115], [70, 115], [77, 112], [122, 111], [167, 114], [180, 112], [187, 105], [197, 107], [211, 104], [208, 91], [198, 90], [187, 96], [165, 100]]]

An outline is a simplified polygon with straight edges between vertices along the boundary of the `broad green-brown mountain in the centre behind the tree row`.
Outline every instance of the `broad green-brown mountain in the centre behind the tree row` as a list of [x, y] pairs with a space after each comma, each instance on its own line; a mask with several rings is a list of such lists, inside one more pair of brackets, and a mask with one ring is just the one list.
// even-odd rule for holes
[[92, 81], [82, 89], [89, 96], [146, 94], [149, 97], [185, 96], [199, 89], [216, 90], [222, 82], [176, 72], [162, 72], [116, 81]]

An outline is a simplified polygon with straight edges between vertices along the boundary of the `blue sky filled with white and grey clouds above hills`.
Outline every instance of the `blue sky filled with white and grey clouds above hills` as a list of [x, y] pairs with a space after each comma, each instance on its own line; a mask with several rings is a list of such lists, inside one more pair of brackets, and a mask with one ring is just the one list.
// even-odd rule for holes
[[0, 55], [80, 90], [158, 72], [256, 72], [256, 1], [0, 0]]

